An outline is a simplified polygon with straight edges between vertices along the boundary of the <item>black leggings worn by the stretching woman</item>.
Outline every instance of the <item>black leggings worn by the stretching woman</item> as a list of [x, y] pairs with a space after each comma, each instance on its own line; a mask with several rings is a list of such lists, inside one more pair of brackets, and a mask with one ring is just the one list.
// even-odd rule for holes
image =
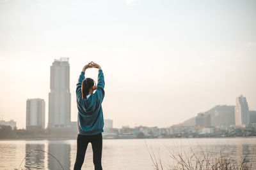
[[92, 143], [93, 151], [93, 164], [95, 170], [102, 170], [101, 166], [101, 155], [102, 155], [102, 134], [95, 134], [91, 136], [77, 135], [77, 152], [76, 152], [76, 163], [74, 170], [81, 169], [84, 162], [84, 155], [88, 143]]

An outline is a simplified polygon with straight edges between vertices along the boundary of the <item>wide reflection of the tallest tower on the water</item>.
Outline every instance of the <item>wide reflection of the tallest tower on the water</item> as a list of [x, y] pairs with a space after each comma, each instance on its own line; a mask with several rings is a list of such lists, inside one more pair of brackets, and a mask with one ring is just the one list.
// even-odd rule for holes
[[[64, 169], [70, 169], [70, 145], [65, 143], [49, 143], [48, 152], [59, 160]], [[62, 170], [58, 161], [48, 155], [48, 168], [52, 170]]]

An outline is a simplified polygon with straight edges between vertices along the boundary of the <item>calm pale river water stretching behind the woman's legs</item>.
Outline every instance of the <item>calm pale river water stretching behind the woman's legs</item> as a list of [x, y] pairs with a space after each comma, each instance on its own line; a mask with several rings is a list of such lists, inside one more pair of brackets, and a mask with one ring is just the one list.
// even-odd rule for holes
[[[106, 169], [154, 169], [150, 153], [161, 158], [164, 166], [173, 164], [170, 152], [188, 152], [191, 148], [198, 154], [204, 151], [217, 155], [220, 150], [240, 161], [246, 157], [256, 169], [256, 138], [191, 138], [191, 139], [104, 139], [102, 167]], [[0, 141], [0, 169], [18, 168], [26, 154], [44, 150], [56, 157], [64, 169], [73, 169], [76, 160], [76, 140], [17, 140]], [[148, 152], [149, 150], [149, 152]], [[92, 146], [89, 144], [82, 169], [93, 169]], [[62, 169], [51, 155], [35, 151], [29, 154], [23, 169]], [[164, 168], [166, 169], [166, 168]], [[254, 168], [253, 168], [254, 169]]]

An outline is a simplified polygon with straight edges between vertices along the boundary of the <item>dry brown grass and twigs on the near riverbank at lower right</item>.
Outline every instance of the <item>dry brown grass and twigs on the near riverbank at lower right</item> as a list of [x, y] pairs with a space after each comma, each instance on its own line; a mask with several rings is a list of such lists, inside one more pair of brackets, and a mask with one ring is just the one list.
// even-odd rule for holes
[[[147, 145], [147, 144], [146, 144]], [[148, 146], [147, 146], [148, 148]], [[220, 149], [220, 148], [219, 148]], [[161, 159], [161, 154], [156, 155], [152, 148], [148, 148], [148, 153], [152, 160], [154, 170], [251, 170], [253, 169], [253, 158], [242, 155], [229, 155], [221, 148], [214, 151], [196, 146], [190, 147], [189, 152], [180, 148], [169, 148], [165, 146], [164, 154], [169, 159]], [[217, 151], [218, 150], [218, 151]], [[233, 153], [234, 154], [234, 153]], [[238, 159], [238, 160], [237, 160]], [[255, 165], [254, 165], [255, 168]]]

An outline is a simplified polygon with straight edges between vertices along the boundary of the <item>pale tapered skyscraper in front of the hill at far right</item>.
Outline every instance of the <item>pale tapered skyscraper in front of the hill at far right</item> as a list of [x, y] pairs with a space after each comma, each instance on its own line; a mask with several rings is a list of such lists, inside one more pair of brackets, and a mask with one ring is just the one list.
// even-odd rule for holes
[[250, 123], [249, 108], [246, 97], [243, 95], [236, 97], [235, 119], [236, 126], [246, 127]]

